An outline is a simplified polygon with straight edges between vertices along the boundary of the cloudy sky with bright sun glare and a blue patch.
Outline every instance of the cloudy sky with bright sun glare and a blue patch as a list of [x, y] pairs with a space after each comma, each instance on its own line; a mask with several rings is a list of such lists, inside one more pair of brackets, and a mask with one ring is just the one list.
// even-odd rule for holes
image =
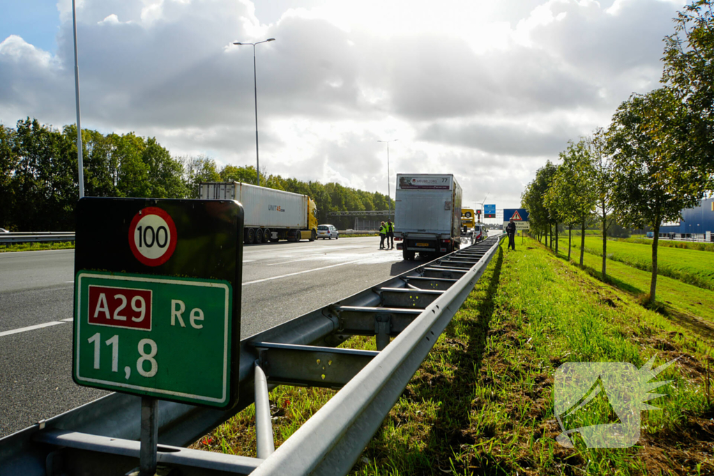
[[[387, 191], [453, 173], [516, 207], [568, 140], [658, 87], [680, 0], [77, 0], [82, 126]], [[76, 121], [71, 0], [0, 0], [0, 122]]]

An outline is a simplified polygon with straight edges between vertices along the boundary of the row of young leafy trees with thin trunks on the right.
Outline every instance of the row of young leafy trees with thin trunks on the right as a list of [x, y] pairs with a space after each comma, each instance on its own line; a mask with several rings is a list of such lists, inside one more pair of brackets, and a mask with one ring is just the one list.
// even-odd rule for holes
[[[665, 38], [661, 88], [633, 94], [618, 107], [607, 129], [571, 141], [560, 163], [548, 161], [521, 196], [531, 231], [558, 250], [558, 223], [580, 229], [580, 266], [585, 228], [599, 222], [602, 277], [607, 278], [607, 232], [613, 223], [649, 227], [652, 277], [657, 285], [658, 233], [714, 189], [714, 14], [710, 0], [696, 0], [675, 19]], [[555, 239], [553, 239], [555, 229]]]

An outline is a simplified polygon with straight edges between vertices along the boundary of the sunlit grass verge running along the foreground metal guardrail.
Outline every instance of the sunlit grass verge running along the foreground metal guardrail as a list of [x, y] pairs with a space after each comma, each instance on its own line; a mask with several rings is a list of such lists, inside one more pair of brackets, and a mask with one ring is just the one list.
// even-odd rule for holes
[[[520, 240], [518, 240], [520, 242]], [[373, 339], [350, 345], [373, 348]], [[706, 474], [714, 471], [714, 417], [705, 393], [707, 343], [645, 310], [533, 240], [498, 251], [473, 293], [353, 468], [355, 475]], [[561, 447], [553, 378], [561, 363], [623, 361], [640, 368], [680, 358], [658, 380], [668, 397], [643, 412], [637, 446]], [[271, 393], [276, 444], [333, 395], [281, 387]], [[612, 422], [593, 400], [588, 424]], [[196, 443], [255, 455], [250, 407]]]

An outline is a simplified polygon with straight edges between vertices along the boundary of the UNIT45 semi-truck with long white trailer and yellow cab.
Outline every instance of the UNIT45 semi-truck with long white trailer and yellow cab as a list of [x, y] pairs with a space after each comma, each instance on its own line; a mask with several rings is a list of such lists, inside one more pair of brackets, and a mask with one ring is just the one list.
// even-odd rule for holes
[[241, 182], [203, 182], [198, 198], [236, 200], [243, 205], [243, 243], [268, 241], [314, 241], [317, 207], [306, 195]]

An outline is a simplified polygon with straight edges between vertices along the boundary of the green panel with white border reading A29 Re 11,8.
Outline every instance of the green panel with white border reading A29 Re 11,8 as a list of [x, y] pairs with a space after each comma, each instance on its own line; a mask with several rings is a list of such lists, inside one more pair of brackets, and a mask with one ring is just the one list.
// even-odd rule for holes
[[108, 390], [223, 407], [230, 283], [80, 271], [74, 376]]

